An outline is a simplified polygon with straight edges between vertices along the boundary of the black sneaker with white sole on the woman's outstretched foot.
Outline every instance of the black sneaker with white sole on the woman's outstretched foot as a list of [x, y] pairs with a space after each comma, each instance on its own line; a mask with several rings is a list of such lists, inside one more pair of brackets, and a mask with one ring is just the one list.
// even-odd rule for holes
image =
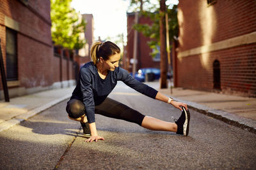
[[186, 110], [186, 108], [182, 107], [182, 113], [178, 120], [175, 120], [175, 124], [177, 124], [177, 134], [183, 134], [184, 136], [188, 136], [189, 131], [189, 120], [190, 113]]

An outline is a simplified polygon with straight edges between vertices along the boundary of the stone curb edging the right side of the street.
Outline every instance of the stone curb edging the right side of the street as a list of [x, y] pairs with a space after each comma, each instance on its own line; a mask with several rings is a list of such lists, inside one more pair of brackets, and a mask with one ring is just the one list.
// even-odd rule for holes
[[222, 122], [225, 122], [230, 125], [234, 125], [236, 127], [239, 127], [241, 129], [244, 129], [246, 131], [256, 134], [256, 121], [255, 120], [251, 120], [250, 118], [239, 117], [232, 113], [228, 113], [227, 111], [212, 109], [212, 108], [209, 108], [207, 106], [204, 106], [202, 104], [198, 104], [195, 102], [184, 101], [182, 99], [178, 99], [175, 97], [173, 97], [173, 99], [175, 101], [179, 101], [179, 102], [188, 104], [188, 108], [191, 108], [192, 110], [198, 111], [198, 112], [203, 113], [204, 115], [207, 115], [209, 117], [216, 118], [218, 120], [221, 120]]

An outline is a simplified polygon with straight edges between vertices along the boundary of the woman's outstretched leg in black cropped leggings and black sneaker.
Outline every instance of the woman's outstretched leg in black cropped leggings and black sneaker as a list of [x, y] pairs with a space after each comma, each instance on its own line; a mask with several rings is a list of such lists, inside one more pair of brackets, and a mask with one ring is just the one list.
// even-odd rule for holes
[[173, 123], [164, 122], [163, 120], [153, 117], [147, 117], [142, 115], [140, 112], [129, 108], [125, 104], [110, 98], [107, 98], [102, 104], [96, 106], [95, 113], [106, 117], [133, 122], [154, 131], [170, 131], [188, 136], [190, 115], [189, 111], [186, 111], [184, 107], [182, 107], [182, 114], [180, 115], [180, 118]]

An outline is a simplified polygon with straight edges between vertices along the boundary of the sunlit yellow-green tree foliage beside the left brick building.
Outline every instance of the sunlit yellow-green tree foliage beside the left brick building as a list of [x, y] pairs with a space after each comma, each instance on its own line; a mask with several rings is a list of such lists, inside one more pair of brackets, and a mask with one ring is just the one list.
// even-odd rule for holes
[[79, 34], [84, 32], [86, 23], [79, 23], [78, 13], [70, 7], [72, 0], [51, 0], [52, 41], [68, 49], [80, 49], [84, 39]]

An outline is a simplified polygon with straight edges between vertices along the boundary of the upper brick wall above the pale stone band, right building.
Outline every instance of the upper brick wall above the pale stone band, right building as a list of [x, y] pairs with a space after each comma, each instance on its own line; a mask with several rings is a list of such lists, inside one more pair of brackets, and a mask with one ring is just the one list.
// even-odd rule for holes
[[217, 1], [208, 7], [206, 0], [179, 1], [178, 13], [181, 51], [256, 30], [254, 0]]

